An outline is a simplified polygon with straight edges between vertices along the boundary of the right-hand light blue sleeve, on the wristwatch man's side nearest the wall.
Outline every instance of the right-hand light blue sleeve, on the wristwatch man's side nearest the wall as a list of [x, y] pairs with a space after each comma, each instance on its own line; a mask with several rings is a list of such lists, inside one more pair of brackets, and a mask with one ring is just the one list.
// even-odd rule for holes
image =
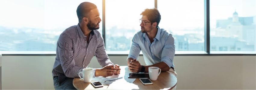
[[169, 67], [174, 67], [173, 65], [173, 58], [175, 55], [175, 45], [174, 45], [174, 38], [172, 35], [168, 35], [165, 38], [165, 44], [162, 51], [162, 58], [161, 61], [165, 62]]

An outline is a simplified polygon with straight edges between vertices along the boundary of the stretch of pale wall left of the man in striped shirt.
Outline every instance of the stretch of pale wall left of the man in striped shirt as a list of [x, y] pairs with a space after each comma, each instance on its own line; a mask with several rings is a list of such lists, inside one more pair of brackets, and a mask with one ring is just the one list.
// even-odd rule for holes
[[2, 89], [54, 89], [55, 56], [2, 56]]

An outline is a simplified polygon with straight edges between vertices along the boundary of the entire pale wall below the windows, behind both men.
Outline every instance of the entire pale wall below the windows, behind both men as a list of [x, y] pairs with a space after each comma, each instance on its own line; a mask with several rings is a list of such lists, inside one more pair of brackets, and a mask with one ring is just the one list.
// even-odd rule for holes
[[[126, 65], [127, 56], [109, 56]], [[2, 89], [54, 89], [55, 56], [2, 56]], [[139, 61], [145, 64], [143, 57]], [[176, 89], [256, 89], [256, 56], [175, 56]], [[94, 57], [88, 67], [101, 67]]]

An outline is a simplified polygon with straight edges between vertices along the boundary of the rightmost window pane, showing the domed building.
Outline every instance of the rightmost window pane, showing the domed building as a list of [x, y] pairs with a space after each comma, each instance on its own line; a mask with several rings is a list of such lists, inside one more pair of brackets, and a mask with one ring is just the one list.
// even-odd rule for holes
[[210, 0], [210, 50], [256, 51], [255, 11], [255, 0]]

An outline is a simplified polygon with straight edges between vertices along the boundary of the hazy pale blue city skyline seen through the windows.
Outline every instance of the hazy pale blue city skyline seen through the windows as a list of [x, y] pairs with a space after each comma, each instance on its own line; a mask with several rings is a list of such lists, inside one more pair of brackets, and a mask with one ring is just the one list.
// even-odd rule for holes
[[[228, 19], [220, 19], [220, 20], [217, 20], [217, 22], [218, 21], [219, 22], [226, 22], [225, 20], [229, 20], [228, 23], [224, 23], [224, 25], [226, 25], [226, 27], [227, 27], [229, 25], [232, 25], [232, 23], [230, 23], [230, 22], [233, 22], [232, 18], [234, 18], [234, 17], [229, 17]], [[243, 24], [252, 25], [252, 29], [254, 30], [252, 32], [255, 32], [255, 24], [254, 24], [254, 22], [252, 22], [253, 21], [252, 19], [254, 19], [255, 17], [254, 18], [239, 17], [239, 18], [249, 18], [249, 19], [245, 19], [247, 21], [242, 21], [243, 23], [241, 23], [241, 21], [239, 21], [239, 23], [241, 23], [241, 25], [243, 25]], [[250, 22], [250, 23], [248, 23], [248, 22]], [[240, 24], [235, 24], [235, 25], [241, 26]], [[223, 26], [223, 25], [219, 25], [219, 26]], [[220, 32], [220, 33], [223, 33], [223, 34], [229, 33], [230, 31], [226, 30], [225, 29], [226, 27], [211, 30], [211, 33], [212, 32]], [[4, 27], [2, 27], [2, 28], [4, 28]], [[5, 29], [8, 29], [8, 28], [5, 28]], [[224, 29], [224, 31], [222, 29]], [[245, 29], [248, 29], [248, 28], [245, 28]], [[131, 39], [133, 37], [124, 37], [124, 36], [125, 35], [134, 35], [136, 32], [140, 32], [140, 31], [139, 30], [134, 30], [134, 29], [131, 29], [131, 30], [122, 29], [122, 30], [124, 30], [126, 32], [120, 32], [120, 29], [117, 29], [117, 27], [112, 27], [111, 29], [109, 29], [106, 32], [107, 35], [110, 32], [116, 32], [115, 35], [109, 35], [109, 36], [106, 37], [106, 50], [108, 50], [108, 51], [128, 51], [130, 49]], [[235, 29], [235, 30], [237, 30], [237, 29]], [[241, 29], [241, 30], [245, 31], [243, 29]], [[2, 45], [4, 45], [4, 46], [0, 45], [0, 51], [1, 50], [2, 51], [9, 51], [8, 47], [9, 48], [16, 47], [16, 49], [12, 49], [11, 51], [13, 51], [13, 50], [15, 51], [19, 48], [23, 48], [23, 50], [27, 50], [27, 51], [43, 50], [43, 49], [47, 49], [47, 50], [50, 50], [50, 51], [55, 50], [55, 46], [56, 46], [56, 43], [57, 43], [57, 40], [58, 40], [58, 37], [59, 37], [58, 34], [50, 33], [50, 32], [46, 33], [44, 30], [40, 30], [40, 29], [36, 29], [36, 28], [35, 29], [23, 28], [23, 29], [20, 29], [19, 31], [22, 31], [22, 32], [18, 32], [18, 30], [16, 29], [16, 30], [12, 30], [12, 32], [0, 33], [0, 35], [1, 34], [2, 35], [7, 35], [7, 36], [4, 36], [5, 40], [7, 42], [6, 41], [0, 41], [2, 43]], [[194, 31], [198, 31], [198, 29], [184, 30], [184, 31], [194, 32]], [[61, 32], [62, 31], [59, 31], [58, 33], [60, 34]], [[172, 31], [170, 31], [170, 32], [172, 32]], [[41, 35], [31, 35], [30, 33], [41, 34]], [[250, 33], [244, 33], [244, 32], [242, 32], [242, 33], [243, 34], [250, 34]], [[8, 41], [10, 41], [10, 40], [8, 40], [8, 38], [6, 38], [9, 35], [14, 35], [13, 37], [15, 37], [16, 35], [20, 35], [20, 37], [23, 37], [23, 35], [24, 35], [24, 36], [29, 36], [30, 39], [28, 39], [26, 37], [19, 38], [18, 40], [13, 40], [13, 42], [12, 42], [13, 44], [12, 44], [11, 42], [8, 43]], [[43, 37], [41, 37], [41, 36], [43, 36]], [[223, 37], [223, 36], [225, 36], [225, 37]], [[241, 38], [244, 39], [244, 38], [247, 38], [247, 37], [243, 37], [243, 36], [246, 36], [246, 35], [238, 35], [238, 36], [240, 36], [240, 38], [236, 38], [236, 37], [232, 38], [231, 36], [221, 35], [221, 34], [217, 34], [217, 36], [211, 35], [211, 51], [218, 51], [218, 49], [223, 50], [223, 51], [225, 51], [225, 50], [226, 51], [227, 50], [236, 51], [236, 49], [238, 51], [243, 50], [243, 48], [241, 48], [241, 44], [246, 45], [246, 43], [243, 43], [244, 41], [241, 42], [241, 40], [239, 40], [239, 39], [241, 39]], [[175, 47], [176, 47], [177, 51], [191, 51], [191, 50], [192, 51], [204, 51], [204, 37], [202, 37], [200, 33], [199, 34], [186, 33], [185, 35], [174, 35], [174, 38], [175, 38], [175, 44], [176, 44]], [[255, 51], [255, 49], [253, 48], [253, 46], [255, 45], [255, 42], [253, 42], [253, 40], [251, 40], [253, 38], [255, 38], [255, 35], [252, 36], [252, 38], [247, 38], [247, 40], [246, 40], [247, 43], [248, 43], [248, 40], [252, 41], [251, 44], [249, 44], [249, 46], [247, 46], [247, 47], [249, 47], [248, 49], [246, 49], [247, 51], [251, 51], [250, 48]], [[217, 39], [217, 40], [215, 40], [215, 39]], [[229, 42], [230, 44], [228, 44], [228, 43], [221, 44], [221, 43], [218, 43], [218, 42], [217, 42], [217, 44], [213, 43], [215, 41], [220, 41], [220, 40], [222, 40], [222, 41], [224, 40], [226, 42], [231, 41], [231, 42]], [[233, 43], [233, 42], [240, 42], [240, 43], [238, 43], [239, 46], [236, 46], [236, 45], [232, 46], [231, 43]], [[6, 47], [5, 45], [8, 45], [7, 49], [3, 48], [3, 47]], [[31, 45], [32, 45], [32, 47], [31, 47]], [[221, 46], [221, 45], [224, 45], [224, 46]], [[253, 45], [253, 46], [251, 47], [250, 45]], [[40, 46], [44, 47], [44, 48], [41, 48]], [[48, 47], [48, 48], [46, 48], [46, 47]], [[49, 47], [51, 47], [51, 48], [49, 48]]]

